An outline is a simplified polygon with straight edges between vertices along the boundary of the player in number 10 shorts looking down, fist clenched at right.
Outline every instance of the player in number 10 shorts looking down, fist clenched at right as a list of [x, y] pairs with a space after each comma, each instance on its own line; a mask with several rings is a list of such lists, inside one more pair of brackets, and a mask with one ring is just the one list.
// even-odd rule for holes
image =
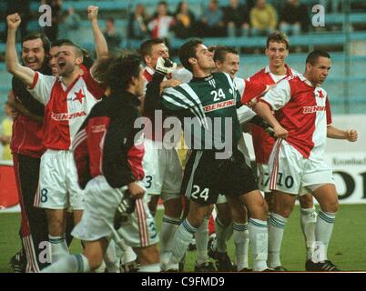
[[[309, 192], [320, 204], [315, 226], [317, 251], [306, 262], [307, 271], [338, 271], [327, 257], [339, 203], [330, 166], [324, 161], [326, 138], [357, 140], [356, 131], [331, 125], [328, 95], [320, 87], [330, 65], [328, 53], [312, 51], [303, 75], [280, 81], [254, 107], [278, 137], [269, 157], [269, 189], [273, 213], [285, 222], [282, 228], [298, 194]], [[277, 239], [281, 242], [282, 236]]]

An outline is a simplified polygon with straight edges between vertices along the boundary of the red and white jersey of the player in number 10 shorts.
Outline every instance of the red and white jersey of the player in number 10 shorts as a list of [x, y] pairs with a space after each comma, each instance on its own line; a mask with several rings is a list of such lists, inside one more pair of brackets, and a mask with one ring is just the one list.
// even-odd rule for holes
[[323, 158], [327, 125], [331, 124], [327, 92], [311, 85], [303, 75], [280, 81], [264, 95], [280, 125], [289, 131], [287, 142], [305, 158]]

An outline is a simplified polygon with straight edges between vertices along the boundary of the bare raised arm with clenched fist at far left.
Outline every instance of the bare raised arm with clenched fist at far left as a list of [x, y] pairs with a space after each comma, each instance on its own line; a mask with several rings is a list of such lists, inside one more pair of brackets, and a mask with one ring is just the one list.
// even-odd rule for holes
[[15, 49], [15, 35], [16, 30], [21, 23], [20, 16], [17, 13], [14, 15], [7, 15], [6, 22], [8, 27], [5, 50], [6, 69], [10, 74], [19, 78], [25, 85], [30, 86], [35, 79], [35, 71], [19, 64]]

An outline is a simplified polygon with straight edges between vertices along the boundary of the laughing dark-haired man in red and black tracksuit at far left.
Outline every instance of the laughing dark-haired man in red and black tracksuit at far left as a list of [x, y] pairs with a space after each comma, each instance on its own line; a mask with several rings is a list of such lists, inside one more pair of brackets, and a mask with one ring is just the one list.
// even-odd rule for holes
[[[11, 29], [9, 34], [12, 34]], [[26, 35], [22, 41], [23, 64], [42, 74], [51, 75], [46, 64], [49, 49], [50, 42], [46, 35]], [[19, 254], [24, 256], [15, 255], [10, 264], [15, 272], [36, 273], [48, 265], [45, 260], [41, 260], [41, 252], [45, 250], [48, 241], [46, 214], [44, 209], [34, 206], [40, 157], [45, 152], [42, 145], [45, 106], [32, 97], [22, 81], [15, 76], [12, 79], [12, 90], [14, 94], [9, 95], [8, 102], [17, 116], [10, 146], [22, 216], [19, 234], [23, 251]]]

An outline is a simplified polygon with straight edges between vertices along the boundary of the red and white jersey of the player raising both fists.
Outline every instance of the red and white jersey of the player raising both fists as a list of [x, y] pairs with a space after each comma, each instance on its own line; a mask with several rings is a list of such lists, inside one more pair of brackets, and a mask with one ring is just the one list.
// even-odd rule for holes
[[54, 150], [68, 150], [77, 130], [91, 108], [103, 96], [104, 88], [90, 75], [84, 65], [84, 75], [78, 75], [68, 87], [61, 78], [36, 72], [28, 89], [46, 105], [43, 144]]

